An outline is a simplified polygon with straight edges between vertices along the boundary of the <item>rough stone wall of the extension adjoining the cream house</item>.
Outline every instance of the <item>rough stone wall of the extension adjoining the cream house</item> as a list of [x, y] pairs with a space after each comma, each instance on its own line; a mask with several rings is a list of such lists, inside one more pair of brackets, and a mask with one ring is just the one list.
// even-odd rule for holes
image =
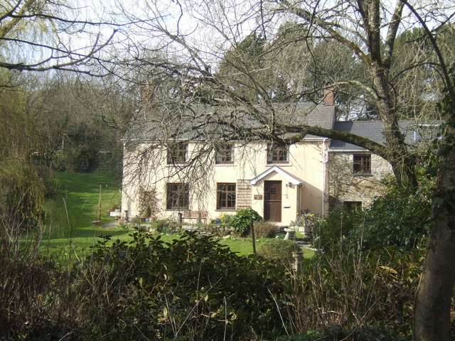
[[329, 153], [328, 161], [328, 195], [329, 207], [336, 208], [343, 202], [362, 202], [368, 207], [373, 199], [385, 191], [381, 180], [392, 173], [390, 163], [380, 156], [371, 154], [370, 175], [353, 173], [353, 155], [366, 154], [362, 151]]

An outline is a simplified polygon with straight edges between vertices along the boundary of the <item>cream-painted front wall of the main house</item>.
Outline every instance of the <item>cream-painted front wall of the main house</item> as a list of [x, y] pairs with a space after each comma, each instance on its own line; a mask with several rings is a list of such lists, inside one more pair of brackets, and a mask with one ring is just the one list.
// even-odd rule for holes
[[[164, 148], [152, 148], [150, 144], [124, 148], [124, 178], [122, 188], [122, 215], [144, 215], [139, 205], [141, 190], [153, 190], [156, 197], [156, 212], [159, 218], [178, 219], [182, 210], [166, 210], [166, 184], [188, 183], [190, 200], [188, 210], [206, 210], [209, 220], [221, 214], [235, 214], [235, 210], [216, 210], [217, 183], [236, 183], [237, 206], [251, 206], [264, 215], [264, 180], [282, 181], [282, 222], [289, 225], [297, 212], [309, 210], [321, 215], [327, 198], [323, 188], [328, 188], [328, 178], [323, 163], [327, 148], [325, 140], [303, 141], [289, 147], [289, 163], [276, 164], [283, 171], [303, 181], [303, 187], [288, 185], [289, 178], [271, 173], [250, 185], [249, 180], [274, 166], [267, 164], [267, 144], [255, 142], [235, 144], [234, 163], [215, 165], [214, 153], [205, 153], [203, 144], [188, 146], [189, 162], [183, 166], [166, 165]], [[198, 157], [196, 157], [198, 156]], [[240, 193], [242, 192], [242, 193]], [[262, 199], [255, 199], [262, 195]], [[237, 207], [241, 208], [241, 207]]]

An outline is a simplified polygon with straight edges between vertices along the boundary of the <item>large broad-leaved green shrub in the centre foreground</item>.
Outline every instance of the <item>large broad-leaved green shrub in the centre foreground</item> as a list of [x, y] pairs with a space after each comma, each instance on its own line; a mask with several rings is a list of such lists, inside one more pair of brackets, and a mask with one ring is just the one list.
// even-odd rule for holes
[[106, 340], [238, 340], [245, 332], [284, 331], [277, 323], [277, 308], [286, 316], [281, 297], [289, 288], [282, 269], [196, 234], [172, 242], [132, 237], [99, 242], [78, 267], [85, 311], [96, 332], [111, 335]]

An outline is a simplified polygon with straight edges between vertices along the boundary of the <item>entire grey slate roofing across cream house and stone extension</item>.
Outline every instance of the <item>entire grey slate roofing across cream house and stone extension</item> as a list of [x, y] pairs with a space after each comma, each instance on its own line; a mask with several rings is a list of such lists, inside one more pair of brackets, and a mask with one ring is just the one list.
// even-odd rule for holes
[[[269, 129], [269, 124], [272, 124], [272, 111], [275, 113], [274, 119], [282, 124], [306, 124], [320, 126], [324, 129], [349, 131], [379, 144], [385, 144], [382, 121], [336, 121], [335, 106], [323, 103], [317, 105], [314, 103], [276, 103], [272, 104], [272, 109], [262, 104], [255, 104], [255, 109], [256, 112], [252, 112], [242, 107], [208, 104], [188, 104], [186, 107], [160, 107], [159, 109], [149, 107], [139, 112], [137, 120], [132, 123], [124, 139], [135, 141], [230, 139], [235, 141], [241, 136], [247, 136], [248, 140], [254, 140], [255, 132], [267, 132]], [[428, 135], [428, 132], [420, 129], [421, 126], [437, 126], [437, 124], [439, 122], [417, 124], [412, 121], [402, 121], [400, 127], [405, 134], [405, 142], [417, 147], [422, 141], [417, 141], [416, 136]], [[240, 127], [240, 129], [235, 127]], [[289, 136], [291, 134], [284, 134], [283, 137]], [[321, 138], [307, 135], [306, 139]], [[364, 148], [332, 139], [329, 150], [362, 151]]]

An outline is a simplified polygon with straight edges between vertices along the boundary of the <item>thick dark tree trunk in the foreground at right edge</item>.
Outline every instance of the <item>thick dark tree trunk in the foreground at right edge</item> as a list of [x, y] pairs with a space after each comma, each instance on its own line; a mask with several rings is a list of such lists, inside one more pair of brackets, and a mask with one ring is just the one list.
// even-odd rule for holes
[[455, 121], [439, 148], [433, 226], [414, 307], [415, 341], [449, 341], [455, 282]]

